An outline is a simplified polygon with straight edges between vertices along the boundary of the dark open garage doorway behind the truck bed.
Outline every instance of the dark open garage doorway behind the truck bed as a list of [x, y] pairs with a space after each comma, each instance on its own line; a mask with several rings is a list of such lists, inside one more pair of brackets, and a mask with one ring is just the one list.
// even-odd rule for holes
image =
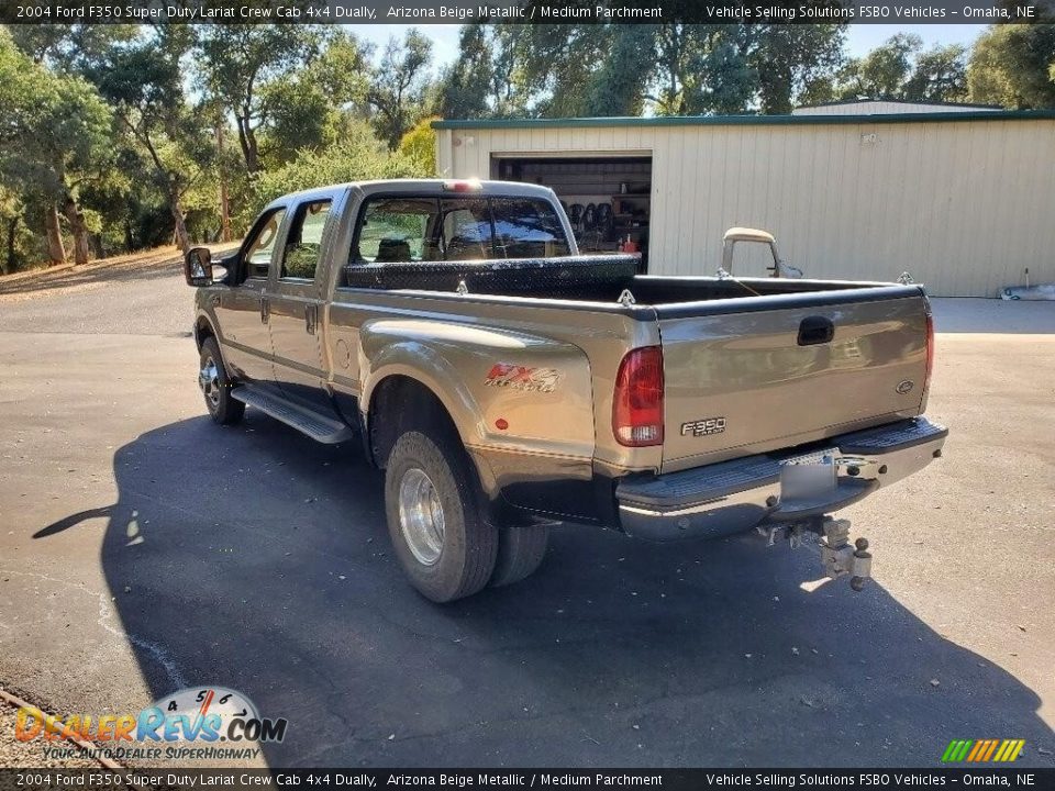
[[549, 187], [571, 220], [584, 253], [640, 252], [648, 266], [651, 156], [496, 155], [492, 174]]

